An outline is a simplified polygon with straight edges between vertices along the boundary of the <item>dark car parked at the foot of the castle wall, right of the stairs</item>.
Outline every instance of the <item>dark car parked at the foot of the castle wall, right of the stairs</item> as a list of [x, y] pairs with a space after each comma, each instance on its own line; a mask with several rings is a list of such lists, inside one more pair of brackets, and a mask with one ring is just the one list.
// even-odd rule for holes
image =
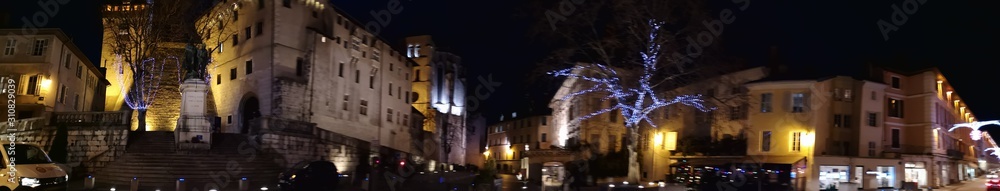
[[337, 188], [339, 176], [337, 166], [329, 161], [299, 163], [278, 175], [278, 188], [282, 191], [329, 191]]

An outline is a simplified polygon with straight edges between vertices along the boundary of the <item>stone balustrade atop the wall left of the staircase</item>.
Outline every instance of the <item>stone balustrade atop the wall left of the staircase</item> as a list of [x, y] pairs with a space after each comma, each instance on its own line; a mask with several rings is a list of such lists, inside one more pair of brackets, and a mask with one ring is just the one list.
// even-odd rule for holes
[[52, 125], [71, 126], [127, 126], [132, 115], [128, 111], [113, 112], [55, 112]]

